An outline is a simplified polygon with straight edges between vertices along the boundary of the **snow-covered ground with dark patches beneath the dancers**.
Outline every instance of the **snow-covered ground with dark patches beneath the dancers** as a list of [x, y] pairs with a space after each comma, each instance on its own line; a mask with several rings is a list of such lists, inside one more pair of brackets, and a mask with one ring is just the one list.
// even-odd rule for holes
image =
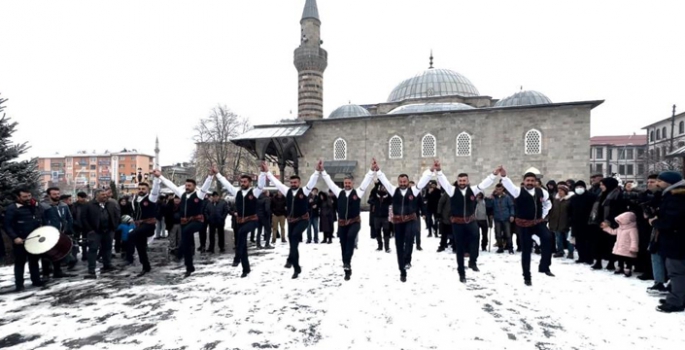
[[[366, 219], [366, 217], [365, 217]], [[366, 221], [365, 221], [366, 222]], [[426, 238], [399, 281], [393, 252], [375, 251], [363, 224], [343, 280], [340, 246], [302, 244], [303, 273], [284, 269], [287, 245], [251, 250], [241, 279], [232, 254], [196, 255], [197, 272], [78, 278], [0, 296], [0, 348], [14, 349], [676, 349], [685, 314], [655, 311], [649, 283], [554, 259], [556, 278], [521, 277], [520, 255], [481, 253], [458, 282], [455, 255]], [[394, 243], [394, 242], [393, 242]], [[393, 246], [394, 248], [394, 246]], [[539, 256], [533, 256], [537, 271]], [[28, 277], [28, 276], [27, 276]], [[11, 267], [0, 286], [13, 284]], [[27, 281], [27, 286], [30, 282]]]

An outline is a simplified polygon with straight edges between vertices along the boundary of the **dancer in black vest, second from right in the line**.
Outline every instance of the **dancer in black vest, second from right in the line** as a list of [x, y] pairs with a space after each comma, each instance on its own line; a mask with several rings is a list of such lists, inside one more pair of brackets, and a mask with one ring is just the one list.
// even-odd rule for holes
[[[442, 173], [440, 161], [433, 163], [440, 186], [450, 196], [450, 221], [452, 222], [452, 235], [457, 247], [457, 271], [459, 281], [466, 283], [466, 270], [464, 269], [464, 252], [469, 252], [469, 268], [478, 272], [478, 225], [476, 223], [476, 196], [492, 186], [497, 179], [500, 168], [495, 169], [477, 186], [469, 186], [469, 176], [459, 174], [457, 187], [452, 186], [447, 176]], [[457, 188], [459, 191], [457, 191]]]

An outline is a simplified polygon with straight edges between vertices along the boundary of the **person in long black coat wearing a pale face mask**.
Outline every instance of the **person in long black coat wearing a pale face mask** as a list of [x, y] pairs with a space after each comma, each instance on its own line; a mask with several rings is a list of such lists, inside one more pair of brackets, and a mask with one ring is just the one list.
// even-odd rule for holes
[[578, 264], [592, 264], [591, 235], [595, 233], [590, 227], [590, 213], [597, 197], [586, 188], [585, 181], [575, 183], [575, 195], [571, 198], [568, 206], [569, 224], [571, 236], [575, 238], [576, 250], [578, 250]]

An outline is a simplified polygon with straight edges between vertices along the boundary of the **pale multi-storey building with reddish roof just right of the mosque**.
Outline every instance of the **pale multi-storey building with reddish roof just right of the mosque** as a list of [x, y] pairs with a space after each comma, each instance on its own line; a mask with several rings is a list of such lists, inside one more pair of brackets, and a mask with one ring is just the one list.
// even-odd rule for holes
[[590, 138], [590, 173], [619, 174], [623, 181], [643, 184], [647, 177], [647, 135]]

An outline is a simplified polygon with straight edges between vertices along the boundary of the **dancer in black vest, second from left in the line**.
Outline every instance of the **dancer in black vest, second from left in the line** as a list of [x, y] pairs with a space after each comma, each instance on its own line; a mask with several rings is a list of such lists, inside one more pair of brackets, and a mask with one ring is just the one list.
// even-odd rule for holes
[[177, 196], [181, 197], [181, 247], [178, 250], [178, 259], [185, 259], [186, 273], [189, 277], [195, 271], [193, 266], [193, 246], [195, 243], [195, 232], [200, 232], [203, 227], [204, 215], [202, 200], [205, 198], [209, 187], [212, 185], [212, 175], [205, 179], [202, 188], [197, 189], [197, 182], [187, 179], [185, 185], [176, 186], [169, 179], [162, 176], [162, 172], [154, 170], [152, 174], [172, 190]]

